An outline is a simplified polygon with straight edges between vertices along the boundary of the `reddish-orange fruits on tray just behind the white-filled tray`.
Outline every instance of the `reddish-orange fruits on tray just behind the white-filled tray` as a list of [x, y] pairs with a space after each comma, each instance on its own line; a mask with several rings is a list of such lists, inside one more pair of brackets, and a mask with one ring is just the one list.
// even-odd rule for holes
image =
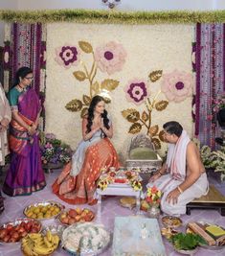
[[88, 208], [69, 209], [58, 215], [58, 220], [65, 225], [71, 225], [76, 222], [93, 221], [94, 218], [94, 212]]

